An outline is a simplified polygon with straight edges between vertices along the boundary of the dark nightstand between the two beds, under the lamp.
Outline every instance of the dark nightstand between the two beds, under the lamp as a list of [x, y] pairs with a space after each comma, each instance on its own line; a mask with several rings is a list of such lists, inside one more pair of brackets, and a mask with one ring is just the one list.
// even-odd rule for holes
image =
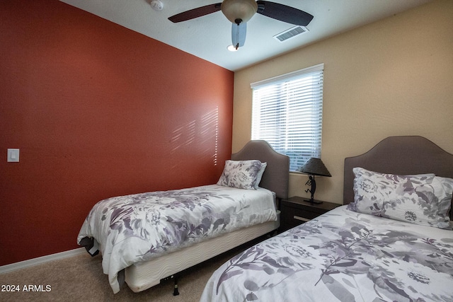
[[281, 221], [279, 231], [287, 231], [289, 228], [299, 226], [299, 224], [310, 221], [341, 205], [333, 204], [332, 202], [311, 204], [310, 202], [305, 202], [304, 199], [307, 198], [295, 196], [280, 200]]

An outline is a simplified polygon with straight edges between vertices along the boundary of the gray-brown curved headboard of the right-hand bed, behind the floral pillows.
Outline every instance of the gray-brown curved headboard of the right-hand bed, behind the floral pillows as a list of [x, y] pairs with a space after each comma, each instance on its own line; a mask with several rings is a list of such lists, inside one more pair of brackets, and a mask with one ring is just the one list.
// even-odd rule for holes
[[345, 158], [343, 204], [354, 201], [352, 168], [355, 167], [379, 173], [435, 173], [444, 178], [453, 178], [453, 154], [424, 137], [387, 137], [367, 153]]

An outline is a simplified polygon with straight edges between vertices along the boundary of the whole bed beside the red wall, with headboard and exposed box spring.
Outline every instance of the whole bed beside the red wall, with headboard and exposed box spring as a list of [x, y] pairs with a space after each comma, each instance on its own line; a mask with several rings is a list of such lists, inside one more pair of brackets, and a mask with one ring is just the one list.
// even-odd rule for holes
[[[159, 284], [193, 265], [275, 231], [287, 198], [289, 158], [249, 141], [214, 185], [111, 197], [93, 206], [77, 243], [101, 252], [114, 293]], [[175, 284], [175, 294], [178, 294]]]

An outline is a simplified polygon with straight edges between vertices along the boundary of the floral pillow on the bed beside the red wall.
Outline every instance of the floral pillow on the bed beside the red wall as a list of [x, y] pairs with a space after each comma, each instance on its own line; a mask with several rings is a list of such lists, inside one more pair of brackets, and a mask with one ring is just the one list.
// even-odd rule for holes
[[258, 160], [225, 161], [225, 167], [217, 185], [238, 189], [257, 190], [267, 163]]

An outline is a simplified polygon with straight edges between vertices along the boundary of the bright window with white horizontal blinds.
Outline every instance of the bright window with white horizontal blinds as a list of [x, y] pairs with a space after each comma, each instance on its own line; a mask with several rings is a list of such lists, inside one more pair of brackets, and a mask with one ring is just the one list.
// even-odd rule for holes
[[251, 83], [252, 139], [289, 156], [289, 170], [321, 158], [323, 69], [319, 64]]

